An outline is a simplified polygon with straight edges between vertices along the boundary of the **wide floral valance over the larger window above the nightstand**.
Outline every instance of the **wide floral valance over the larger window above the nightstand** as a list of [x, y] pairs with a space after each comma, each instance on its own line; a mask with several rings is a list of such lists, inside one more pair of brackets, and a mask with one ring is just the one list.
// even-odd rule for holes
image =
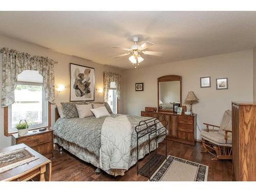
[[43, 77], [46, 99], [55, 103], [54, 96], [54, 64], [56, 61], [48, 57], [31, 56], [16, 50], [3, 48], [3, 77], [2, 77], [2, 108], [14, 103], [14, 90], [17, 86], [17, 76], [25, 70], [35, 70]]

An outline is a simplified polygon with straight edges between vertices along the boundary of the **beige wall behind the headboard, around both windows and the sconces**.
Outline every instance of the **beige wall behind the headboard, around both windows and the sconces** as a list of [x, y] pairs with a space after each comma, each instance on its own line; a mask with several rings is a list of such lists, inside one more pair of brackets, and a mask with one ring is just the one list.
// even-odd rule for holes
[[[95, 63], [86, 59], [58, 53], [34, 44], [29, 44], [27, 42], [0, 36], [0, 48], [3, 48], [3, 47], [15, 49], [19, 52], [26, 52], [31, 55], [49, 57], [58, 61], [58, 64], [55, 65], [54, 67], [55, 87], [57, 87], [58, 84], [63, 84], [64, 86], [66, 86], [66, 89], [61, 93], [55, 92], [56, 103], [69, 101], [69, 95], [70, 95], [69, 63], [70, 62], [95, 68], [95, 89], [103, 88], [103, 71], [113, 71], [122, 75], [122, 70], [117, 68], [100, 65], [99, 63]], [[2, 87], [2, 59], [0, 60], [0, 71], [1, 71], [0, 86]], [[0, 95], [1, 95], [1, 91], [0, 91]], [[121, 85], [121, 97], [122, 95], [123, 94], [122, 94], [122, 85]], [[97, 91], [95, 91], [95, 101], [103, 101], [103, 94], [102, 93], [98, 94]], [[122, 103], [123, 102], [121, 98], [121, 102], [119, 102], [119, 113], [123, 112]], [[55, 105], [52, 105], [52, 125], [55, 119], [54, 109], [55, 109]], [[0, 108], [0, 148], [10, 146], [10, 145], [11, 145], [11, 137], [4, 136], [4, 110]]]

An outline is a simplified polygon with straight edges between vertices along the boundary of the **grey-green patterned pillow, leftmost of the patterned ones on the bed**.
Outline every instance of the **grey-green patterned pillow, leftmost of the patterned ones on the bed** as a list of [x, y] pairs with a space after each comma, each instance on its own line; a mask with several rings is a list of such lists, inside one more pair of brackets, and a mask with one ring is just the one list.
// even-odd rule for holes
[[65, 115], [66, 118], [76, 118], [78, 117], [76, 104], [86, 104], [86, 101], [65, 102], [60, 104], [62, 105], [63, 114]]

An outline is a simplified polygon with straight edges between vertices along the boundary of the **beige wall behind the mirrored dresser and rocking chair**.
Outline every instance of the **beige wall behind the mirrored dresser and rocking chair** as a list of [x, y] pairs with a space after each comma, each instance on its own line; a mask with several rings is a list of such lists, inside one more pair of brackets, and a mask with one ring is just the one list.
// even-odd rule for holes
[[[146, 61], [144, 61], [146, 62]], [[182, 76], [182, 105], [189, 91], [199, 98], [193, 104], [198, 125], [203, 122], [219, 125], [223, 113], [231, 109], [231, 101], [252, 101], [252, 50], [190, 59], [124, 71], [124, 113], [140, 115], [145, 106], [157, 106], [157, 78], [164, 75]], [[200, 77], [211, 77], [210, 88], [200, 88]], [[216, 78], [228, 78], [228, 90], [216, 90]], [[144, 82], [144, 91], [135, 92], [136, 82]], [[198, 131], [197, 138], [200, 133]]]

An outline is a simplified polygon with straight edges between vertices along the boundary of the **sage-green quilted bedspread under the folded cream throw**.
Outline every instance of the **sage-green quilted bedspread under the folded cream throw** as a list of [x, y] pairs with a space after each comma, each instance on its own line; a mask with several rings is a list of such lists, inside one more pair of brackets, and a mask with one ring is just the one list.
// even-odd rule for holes
[[[111, 114], [111, 117], [118, 117], [119, 114]], [[139, 124], [140, 121], [149, 119], [150, 117], [140, 117], [140, 116], [131, 116], [126, 115], [132, 126], [132, 141], [131, 141], [131, 150], [137, 147], [137, 133], [135, 127]], [[94, 116], [86, 117], [83, 119], [79, 118], [59, 118], [53, 127], [54, 135], [65, 139], [71, 143], [86, 148], [89, 152], [96, 155], [99, 158], [99, 150], [101, 147], [101, 127], [108, 116], [95, 118]], [[158, 127], [161, 127], [161, 123], [158, 123]], [[122, 125], [120, 125], [122, 129]], [[148, 137], [145, 136], [139, 140], [139, 145], [147, 141]]]

